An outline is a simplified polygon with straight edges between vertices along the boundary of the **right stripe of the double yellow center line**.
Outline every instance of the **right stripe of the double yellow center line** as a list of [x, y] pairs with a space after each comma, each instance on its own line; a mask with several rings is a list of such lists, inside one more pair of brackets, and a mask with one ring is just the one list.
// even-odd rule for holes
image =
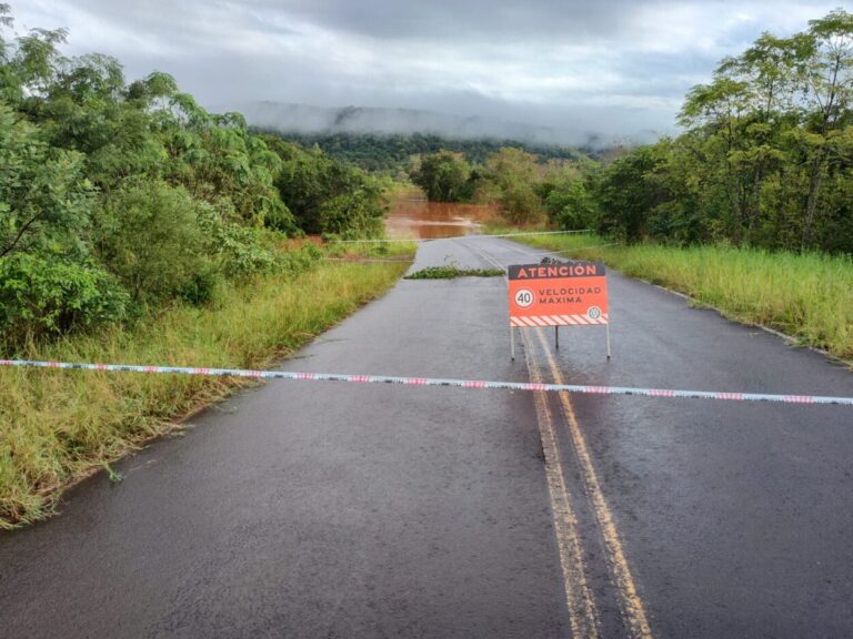
[[[553, 375], [555, 384], [564, 384], [563, 375], [560, 372], [560, 367], [551, 354], [551, 349], [545, 341], [544, 335], [540, 328], [536, 328], [536, 336], [542, 346], [542, 352], [548, 359], [549, 368]], [[560, 397], [560, 405], [562, 406], [563, 414], [569, 424], [569, 433], [572, 436], [574, 443], [574, 449], [578, 454], [578, 459], [581, 464], [581, 471], [583, 476], [584, 485], [589, 497], [592, 501], [593, 509], [595, 510], [595, 517], [599, 521], [599, 529], [604, 539], [604, 546], [606, 549], [608, 564], [611, 568], [613, 577], [615, 579], [616, 590], [619, 595], [620, 606], [622, 607], [622, 613], [628, 622], [631, 637], [636, 639], [651, 639], [652, 630], [649, 627], [649, 621], [645, 617], [645, 609], [640, 596], [636, 592], [636, 586], [631, 575], [631, 569], [628, 566], [624, 550], [622, 549], [622, 542], [619, 539], [616, 532], [616, 526], [613, 523], [613, 516], [608, 506], [604, 494], [601, 490], [599, 478], [595, 473], [595, 467], [592, 464], [592, 457], [590, 455], [589, 447], [586, 446], [586, 439], [583, 436], [580, 424], [578, 423], [578, 416], [574, 413], [569, 393], [561, 392], [558, 394]]]

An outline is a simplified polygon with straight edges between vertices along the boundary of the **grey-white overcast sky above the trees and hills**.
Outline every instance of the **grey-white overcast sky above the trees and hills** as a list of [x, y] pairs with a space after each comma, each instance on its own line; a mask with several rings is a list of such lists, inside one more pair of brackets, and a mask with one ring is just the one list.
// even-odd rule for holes
[[207, 106], [402, 106], [605, 135], [674, 128], [684, 92], [807, 0], [6, 0], [68, 54], [158, 69]]

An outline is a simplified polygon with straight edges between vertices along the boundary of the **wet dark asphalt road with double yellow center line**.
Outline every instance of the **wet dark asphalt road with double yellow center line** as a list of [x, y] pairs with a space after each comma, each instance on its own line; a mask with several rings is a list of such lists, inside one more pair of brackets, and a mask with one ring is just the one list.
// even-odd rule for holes
[[[538, 261], [500, 240], [418, 266]], [[611, 276], [601, 328], [500, 278], [401, 282], [289, 369], [853, 395], [767, 333]], [[279, 382], [0, 535], [9, 637], [847, 637], [844, 407]]]

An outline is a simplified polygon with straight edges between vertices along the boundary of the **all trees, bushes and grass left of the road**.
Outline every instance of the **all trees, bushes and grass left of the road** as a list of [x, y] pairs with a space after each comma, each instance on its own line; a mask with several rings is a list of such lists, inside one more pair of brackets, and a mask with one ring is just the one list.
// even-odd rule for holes
[[[321, 247], [383, 234], [382, 182], [67, 36], [0, 2], [0, 357], [263, 366], [405, 271]], [[239, 384], [0, 368], [0, 528]]]

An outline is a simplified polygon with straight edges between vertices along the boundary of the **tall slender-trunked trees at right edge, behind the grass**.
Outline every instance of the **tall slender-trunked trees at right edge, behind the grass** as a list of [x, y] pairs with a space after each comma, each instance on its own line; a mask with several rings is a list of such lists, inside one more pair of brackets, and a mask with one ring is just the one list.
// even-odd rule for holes
[[851, 179], [852, 98], [853, 16], [832, 11], [790, 38], [763, 33], [688, 94], [686, 132], [656, 171], [673, 200], [650, 231], [701, 217], [702, 235], [735, 244], [842, 245], [825, 229], [847, 227], [837, 193]]

